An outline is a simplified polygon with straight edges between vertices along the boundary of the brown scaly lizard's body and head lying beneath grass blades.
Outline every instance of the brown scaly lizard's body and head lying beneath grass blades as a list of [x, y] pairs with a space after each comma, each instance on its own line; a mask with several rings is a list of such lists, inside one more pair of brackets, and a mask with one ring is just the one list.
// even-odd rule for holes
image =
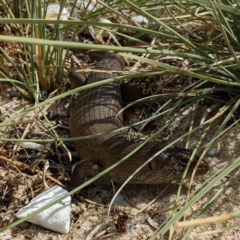
[[[116, 73], [106, 73], [103, 70], [121, 71], [124, 65], [125, 61], [122, 56], [107, 53], [94, 68], [94, 70], [99, 69], [102, 72], [90, 72], [88, 83], [116, 77]], [[80, 92], [70, 114], [71, 137], [92, 135], [122, 127], [122, 116], [115, 118], [121, 109], [122, 99], [118, 82]], [[75, 148], [84, 161], [82, 160], [76, 165], [70, 188], [83, 183], [86, 175], [94, 176], [99, 171], [116, 163], [139, 144], [139, 142], [127, 140], [119, 132], [75, 141]], [[123, 183], [139, 166], [165, 146], [165, 143], [158, 141], [149, 142], [105, 176], [114, 182]], [[183, 148], [168, 148], [136, 174], [130, 183], [160, 184], [181, 179], [191, 153]], [[197, 157], [193, 159], [189, 172], [194, 168], [197, 160]], [[202, 161], [199, 164], [198, 172], [205, 173], [207, 171], [208, 164]]]

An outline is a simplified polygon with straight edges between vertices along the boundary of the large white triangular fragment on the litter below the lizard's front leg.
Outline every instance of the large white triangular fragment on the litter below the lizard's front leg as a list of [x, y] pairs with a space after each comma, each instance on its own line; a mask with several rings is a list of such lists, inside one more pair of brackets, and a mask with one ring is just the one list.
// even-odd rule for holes
[[[62, 187], [55, 185], [33, 198], [27, 206], [16, 213], [16, 216], [17, 218], [26, 217], [67, 193]], [[52, 231], [66, 234], [70, 230], [70, 203], [71, 197], [69, 196], [60, 203], [28, 219], [28, 221]]]

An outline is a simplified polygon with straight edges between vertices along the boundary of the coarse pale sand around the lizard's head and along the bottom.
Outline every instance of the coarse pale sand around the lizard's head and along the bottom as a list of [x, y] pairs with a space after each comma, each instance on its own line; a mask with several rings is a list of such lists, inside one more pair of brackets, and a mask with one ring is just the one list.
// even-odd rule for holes
[[[25, 106], [26, 102], [21, 98], [13, 100], [12, 97], [0, 97], [0, 112], [1, 121], [3, 121], [8, 115], [14, 114], [18, 109]], [[199, 105], [194, 117], [194, 126], [197, 126], [206, 112], [207, 107]], [[208, 143], [213, 134], [217, 131], [219, 124], [224, 119], [221, 117], [214, 124], [212, 124], [210, 130], [204, 139], [204, 143]], [[191, 121], [191, 114], [183, 116], [178, 126], [173, 126], [172, 132], [169, 136], [169, 141], [180, 136], [186, 132], [186, 126], [189, 126]], [[193, 148], [197, 143], [199, 136], [204, 131], [199, 129], [194, 132], [190, 137], [190, 146]], [[197, 176], [194, 180], [192, 189], [198, 188], [204, 181], [209, 179], [213, 174], [220, 171], [227, 166], [228, 162], [236, 157], [240, 156], [239, 148], [240, 134], [237, 130], [224, 136], [220, 142], [214, 147], [215, 153], [213, 155], [207, 154], [204, 159], [210, 165], [210, 171], [202, 176]], [[179, 146], [184, 146], [185, 142], [180, 142]], [[14, 145], [12, 145], [13, 147]], [[0, 147], [4, 148], [3, 143], [0, 142]], [[200, 151], [201, 152], [201, 151]], [[232, 176], [232, 173], [231, 173]], [[4, 179], [3, 179], [4, 180]], [[0, 192], [3, 196], [4, 192], [4, 181], [1, 180]], [[202, 199], [193, 205], [185, 213], [186, 220], [195, 219], [200, 211], [206, 206], [212, 197], [221, 189], [221, 186], [228, 180], [223, 179], [218, 182], [211, 191], [209, 191]], [[229, 186], [223, 190], [220, 197], [210, 206], [204, 217], [219, 216], [225, 213], [237, 212], [240, 210], [240, 178], [239, 176], [229, 184]], [[187, 183], [186, 183], [187, 185]], [[127, 186], [125, 192], [135, 207], [142, 208], [149, 203], [161, 190], [163, 186]], [[99, 191], [94, 200], [98, 202], [109, 203], [112, 197], [111, 190]], [[175, 203], [176, 190], [169, 191], [161, 196], [155, 203], [153, 203], [148, 210], [161, 210], [172, 207]], [[183, 202], [186, 198], [186, 190], [181, 195], [179, 202]], [[4, 204], [1, 202], [1, 206]], [[168, 213], [140, 213], [138, 209], [132, 207], [126, 200], [120, 200], [114, 205], [112, 214], [110, 217], [107, 215], [108, 209], [95, 204], [88, 203], [86, 201], [73, 200], [72, 202], [72, 224], [71, 231], [67, 235], [57, 234], [33, 224], [28, 224], [27, 227], [15, 227], [11, 230], [0, 233], [0, 239], [149, 239], [149, 237], [156, 231], [158, 227], [166, 220], [171, 212]], [[1, 211], [1, 216], [4, 212]], [[121, 225], [118, 221], [122, 216], [128, 217], [126, 221], [122, 221]], [[226, 222], [213, 222], [211, 224], [195, 227], [188, 239], [240, 239], [240, 222], [237, 218], [233, 218]], [[117, 227], [123, 232], [117, 231]], [[224, 232], [221, 229], [237, 225], [235, 228], [230, 228]], [[220, 230], [219, 233], [208, 232]], [[94, 235], [96, 231], [96, 234]], [[174, 232], [171, 239], [181, 239], [184, 235], [185, 230], [178, 229]], [[94, 237], [91, 237], [91, 234]], [[196, 234], [200, 234], [199, 236]], [[87, 238], [88, 237], [88, 238]], [[159, 238], [160, 239], [160, 238]], [[168, 239], [166, 234], [162, 239]]]

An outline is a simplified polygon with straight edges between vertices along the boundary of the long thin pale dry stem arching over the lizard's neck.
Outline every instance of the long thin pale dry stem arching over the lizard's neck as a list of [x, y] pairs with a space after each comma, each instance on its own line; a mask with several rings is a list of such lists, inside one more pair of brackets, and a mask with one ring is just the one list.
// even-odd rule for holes
[[[185, 133], [184, 135], [182, 135], [181, 137], [177, 138], [176, 140], [174, 140], [173, 142], [171, 142], [170, 144], [168, 144], [166, 147], [164, 147], [162, 150], [160, 150], [159, 152], [157, 152], [156, 154], [154, 154], [151, 158], [149, 158], [142, 166], [140, 166], [138, 169], [136, 169], [136, 171], [128, 177], [128, 179], [122, 184], [122, 186], [118, 189], [118, 191], [116, 192], [116, 194], [114, 195], [114, 197], [112, 198], [110, 204], [109, 204], [109, 208], [108, 208], [108, 215], [110, 214], [110, 209], [111, 206], [116, 198], [116, 196], [122, 191], [123, 187], [133, 178], [133, 176], [138, 173], [142, 168], [144, 168], [147, 164], [149, 164], [155, 157], [157, 157], [160, 153], [162, 153], [164, 150], [166, 150], [167, 148], [169, 148], [170, 146], [172, 146], [174, 143], [178, 142], [179, 140], [181, 140], [182, 138], [188, 136], [189, 134], [192, 134], [193, 132], [195, 132], [196, 130], [198, 130], [199, 128], [202, 128], [204, 125], [214, 121], [216, 118], [218, 118], [219, 116], [221, 116], [224, 112], [227, 111], [227, 109], [230, 106], [225, 106], [225, 108], [223, 110], [221, 110], [219, 113], [217, 113], [214, 117], [210, 118], [209, 120], [207, 120], [205, 123], [201, 124], [200, 126], [196, 127], [195, 129], [193, 129], [191, 132]], [[203, 158], [203, 154], [200, 156], [199, 158], [199, 162], [202, 160]]]

